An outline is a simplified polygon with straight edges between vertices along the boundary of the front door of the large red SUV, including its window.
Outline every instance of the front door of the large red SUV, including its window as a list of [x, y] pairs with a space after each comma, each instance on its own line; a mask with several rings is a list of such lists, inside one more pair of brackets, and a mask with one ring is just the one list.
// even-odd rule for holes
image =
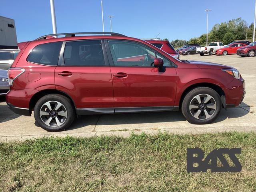
[[[113, 60], [110, 68], [116, 112], [126, 112], [122, 108], [174, 105], [177, 74], [170, 60], [138, 42], [108, 40], [108, 46]], [[164, 60], [165, 72], [154, 68], [156, 57]]]

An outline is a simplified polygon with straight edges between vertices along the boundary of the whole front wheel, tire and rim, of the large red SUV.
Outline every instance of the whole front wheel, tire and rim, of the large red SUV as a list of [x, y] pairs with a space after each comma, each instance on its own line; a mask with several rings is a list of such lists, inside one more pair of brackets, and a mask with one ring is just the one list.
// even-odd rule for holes
[[[198, 96], [201, 103], [197, 105], [199, 103], [198, 99], [196, 99]], [[206, 103], [202, 102], [206, 98], [210, 100]], [[188, 122], [192, 124], [209, 124], [217, 118], [221, 108], [220, 95], [216, 91], [208, 87], [198, 87], [186, 94], [181, 110]]]

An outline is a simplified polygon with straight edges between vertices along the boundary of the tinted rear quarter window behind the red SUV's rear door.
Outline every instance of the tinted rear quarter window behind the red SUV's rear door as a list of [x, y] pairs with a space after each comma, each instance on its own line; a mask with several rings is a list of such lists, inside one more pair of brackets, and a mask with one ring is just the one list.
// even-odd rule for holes
[[45, 43], [36, 46], [29, 54], [27, 61], [57, 66], [62, 42]]

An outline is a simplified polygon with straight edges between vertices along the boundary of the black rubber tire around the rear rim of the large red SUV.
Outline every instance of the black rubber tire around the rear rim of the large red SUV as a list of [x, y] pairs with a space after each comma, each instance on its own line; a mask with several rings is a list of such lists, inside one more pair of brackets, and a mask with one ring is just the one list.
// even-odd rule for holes
[[[63, 120], [62, 124], [59, 126], [48, 126], [44, 123], [44, 121], [40, 117], [41, 108], [43, 106], [45, 106], [44, 104], [46, 102], [49, 102], [49, 101], [60, 102], [66, 112], [66, 118], [65, 118], [65, 120]], [[56, 106], [54, 106], [54, 108], [56, 108]], [[47, 110], [46, 110], [46, 112], [47, 112]], [[69, 126], [74, 121], [75, 116], [76, 116], [76, 112], [75, 112], [74, 106], [73, 106], [72, 102], [70, 101], [70, 99], [68, 99], [67, 97], [65, 97], [63, 95], [59, 95], [59, 94], [49, 94], [49, 95], [43, 96], [42, 98], [40, 98], [38, 100], [38, 102], [36, 102], [36, 105], [34, 107], [34, 118], [36, 120], [36, 123], [41, 128], [43, 128], [44, 130], [49, 131], [49, 132], [63, 131], [65, 129], [69, 128]], [[46, 118], [48, 118], [48, 116], [46, 116]], [[50, 114], [49, 114], [49, 118], [50, 118]], [[54, 118], [52, 118], [52, 119], [54, 119]], [[49, 124], [50, 124], [50, 122], [49, 122]], [[57, 124], [57, 122], [56, 122], [56, 124]]]

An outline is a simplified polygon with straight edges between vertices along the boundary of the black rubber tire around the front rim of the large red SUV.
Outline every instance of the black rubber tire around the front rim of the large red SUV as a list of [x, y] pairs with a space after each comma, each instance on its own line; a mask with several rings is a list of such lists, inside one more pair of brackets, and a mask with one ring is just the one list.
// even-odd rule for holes
[[[194, 97], [197, 95], [200, 95], [200, 94], [202, 94], [202, 95], [208, 94], [214, 99], [214, 102], [216, 104], [216, 109], [212, 113], [210, 118], [198, 119], [192, 115], [192, 112], [190, 110], [190, 102], [192, 103]], [[220, 113], [221, 108], [222, 108], [222, 102], [220, 99], [220, 95], [216, 91], [214, 91], [213, 89], [208, 88], [208, 87], [198, 87], [198, 88], [194, 88], [193, 90], [191, 90], [190, 92], [188, 92], [186, 94], [186, 96], [184, 97], [184, 100], [182, 102], [181, 110], [182, 110], [182, 114], [188, 120], [188, 122], [190, 122], [192, 124], [209, 124], [217, 118], [218, 114]], [[195, 110], [197, 110], [197, 112], [198, 112], [199, 107], [198, 107], [198, 109], [196, 108]], [[208, 110], [211, 110], [211, 109], [208, 109]], [[201, 115], [201, 113], [200, 113], [200, 115]]]

